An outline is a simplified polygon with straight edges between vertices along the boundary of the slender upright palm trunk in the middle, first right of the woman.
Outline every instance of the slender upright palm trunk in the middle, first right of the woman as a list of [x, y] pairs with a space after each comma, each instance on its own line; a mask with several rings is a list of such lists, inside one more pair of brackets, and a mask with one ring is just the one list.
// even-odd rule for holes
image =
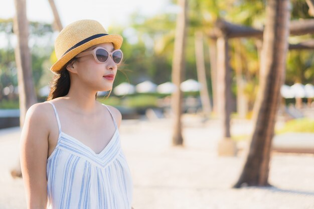
[[183, 81], [185, 72], [185, 45], [188, 3], [186, 0], [179, 0], [178, 5], [182, 10], [177, 17], [175, 49], [172, 64], [172, 80], [177, 87], [177, 90], [172, 94], [172, 110], [174, 113], [173, 144], [183, 145], [181, 121], [183, 93], [180, 90], [180, 84]]

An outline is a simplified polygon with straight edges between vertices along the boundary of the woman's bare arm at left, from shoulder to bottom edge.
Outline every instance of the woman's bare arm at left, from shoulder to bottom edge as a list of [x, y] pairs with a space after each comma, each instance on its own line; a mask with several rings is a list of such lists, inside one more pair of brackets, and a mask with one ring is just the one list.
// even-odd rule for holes
[[21, 133], [21, 168], [28, 209], [45, 209], [47, 206], [49, 129], [46, 109], [43, 103], [32, 105], [26, 113]]

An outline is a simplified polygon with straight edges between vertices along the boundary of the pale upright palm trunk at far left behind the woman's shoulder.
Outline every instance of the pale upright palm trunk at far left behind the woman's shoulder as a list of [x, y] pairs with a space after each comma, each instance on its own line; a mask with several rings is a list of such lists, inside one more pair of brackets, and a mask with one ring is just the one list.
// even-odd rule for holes
[[[28, 46], [29, 23], [26, 16], [26, 0], [15, 0], [16, 16], [14, 18], [14, 33], [17, 35], [15, 58], [18, 69], [19, 99], [20, 99], [20, 127], [24, 125], [27, 110], [37, 103], [33, 77], [32, 57]], [[21, 165], [11, 170], [13, 177], [21, 177]]]

